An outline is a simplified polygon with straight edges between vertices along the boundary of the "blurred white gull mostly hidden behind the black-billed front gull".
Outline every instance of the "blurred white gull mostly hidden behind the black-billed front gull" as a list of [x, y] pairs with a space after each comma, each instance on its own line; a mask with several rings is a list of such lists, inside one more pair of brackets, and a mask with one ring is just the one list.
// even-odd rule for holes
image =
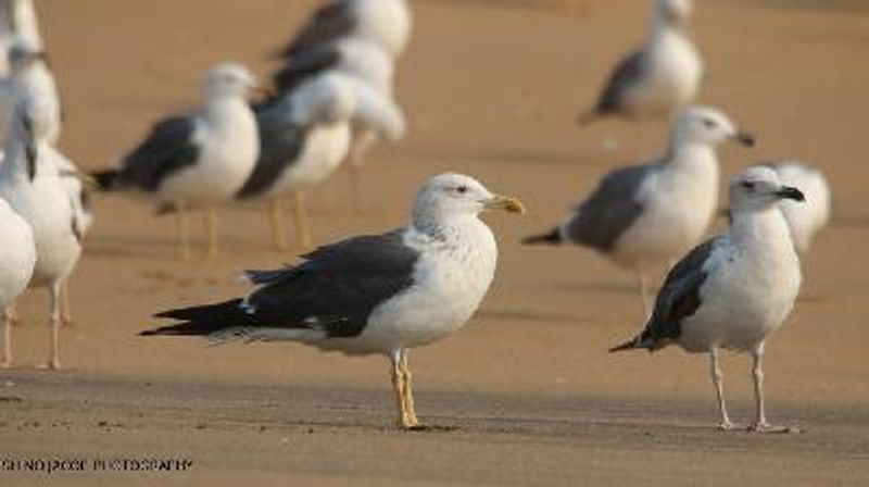
[[795, 186], [806, 195], [805, 203], [779, 203], [791, 228], [796, 251], [805, 255], [811, 239], [830, 222], [832, 196], [823, 174], [798, 161], [781, 161], [769, 165], [785, 185]]

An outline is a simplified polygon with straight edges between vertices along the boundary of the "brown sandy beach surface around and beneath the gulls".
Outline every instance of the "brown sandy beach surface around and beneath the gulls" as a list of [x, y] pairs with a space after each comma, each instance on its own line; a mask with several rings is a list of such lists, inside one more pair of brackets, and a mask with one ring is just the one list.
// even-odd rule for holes
[[[111, 164], [153, 120], [196, 103], [209, 64], [235, 59], [266, 75], [268, 53], [314, 4], [38, 3], [63, 90], [62, 146], [87, 168]], [[663, 124], [572, 123], [641, 38], [645, 2], [430, 0], [414, 3], [417, 30], [400, 72], [411, 132], [371, 155], [364, 213], [345, 211], [343, 177], [312, 199], [320, 242], [402, 225], [417, 185], [450, 170], [526, 201], [525, 217], [489, 218], [502, 258], [476, 319], [412, 355], [418, 412], [436, 428], [392, 428], [381, 358], [137, 337], [155, 324], [153, 312], [243, 292], [241, 270], [293, 254], [270, 250], [264, 215], [245, 208], [226, 213], [218, 261], [181, 263], [171, 220], [141, 201], [100, 197], [73, 280], [66, 370], [34, 370], [47, 348], [45, 297], [23, 300], [17, 366], [0, 372], [0, 462], [162, 455], [193, 465], [0, 472], [0, 485], [869, 485], [860, 143], [869, 15], [848, 2], [785, 3], [704, 1], [696, 33], [709, 67], [703, 101], [759, 140], [754, 150], [722, 148], [723, 173], [799, 158], [822, 167], [835, 191], [834, 223], [805, 263], [803, 298], [767, 353], [769, 415], [803, 434], [715, 430], [704, 357], [606, 353], [640, 325], [630, 274], [588, 251], [517, 244], [609, 167], [662, 150]], [[728, 357], [725, 374], [732, 415], [745, 424], [747, 359]]]

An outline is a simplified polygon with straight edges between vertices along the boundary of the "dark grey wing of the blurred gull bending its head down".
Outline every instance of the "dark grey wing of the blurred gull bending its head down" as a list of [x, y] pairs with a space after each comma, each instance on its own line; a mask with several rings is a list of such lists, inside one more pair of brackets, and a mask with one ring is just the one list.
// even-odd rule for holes
[[279, 101], [256, 108], [260, 158], [238, 191], [239, 198], [255, 198], [268, 191], [284, 171], [298, 161], [307, 130], [287, 116], [289, 109], [288, 103]]

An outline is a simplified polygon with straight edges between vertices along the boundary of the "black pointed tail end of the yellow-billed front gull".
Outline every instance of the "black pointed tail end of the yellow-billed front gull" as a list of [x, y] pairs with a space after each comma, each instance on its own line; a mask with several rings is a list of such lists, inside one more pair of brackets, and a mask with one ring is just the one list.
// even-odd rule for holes
[[218, 336], [231, 329], [250, 326], [251, 315], [242, 307], [241, 299], [234, 299], [217, 304], [180, 308], [154, 315], [180, 321], [168, 326], [146, 329], [139, 335], [151, 336]]

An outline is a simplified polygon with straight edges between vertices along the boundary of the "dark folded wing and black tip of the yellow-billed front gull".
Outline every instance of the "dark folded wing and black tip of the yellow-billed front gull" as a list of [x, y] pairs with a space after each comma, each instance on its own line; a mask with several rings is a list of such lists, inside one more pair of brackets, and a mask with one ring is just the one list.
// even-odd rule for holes
[[161, 313], [182, 323], [144, 334], [286, 327], [323, 330], [331, 338], [356, 336], [375, 308], [413, 285], [419, 252], [404, 245], [403, 235], [355, 237], [304, 255], [298, 266], [250, 271], [253, 283], [265, 284], [247, 300]]

